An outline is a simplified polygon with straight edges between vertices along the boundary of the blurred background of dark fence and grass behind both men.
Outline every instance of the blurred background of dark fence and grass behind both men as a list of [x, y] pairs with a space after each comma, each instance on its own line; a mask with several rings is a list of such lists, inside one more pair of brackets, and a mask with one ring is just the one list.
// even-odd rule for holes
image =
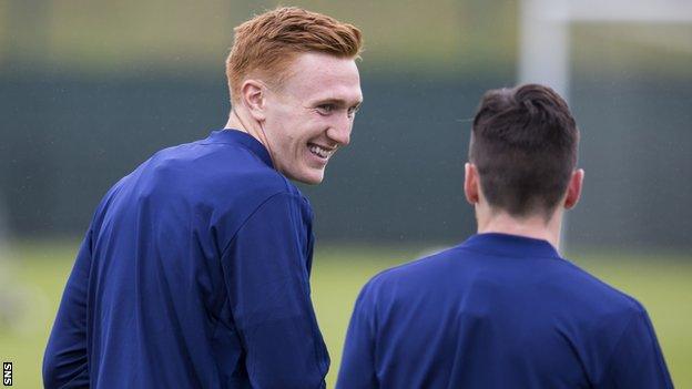
[[[692, 387], [691, 8], [639, 1], [650, 8], [637, 18], [570, 19], [567, 7], [541, 20], [540, 3], [528, 17], [520, 1], [283, 3], [352, 22], [366, 41], [352, 144], [322, 185], [302, 187], [316, 214], [329, 387], [360, 286], [475, 232], [462, 194], [470, 121], [484, 91], [527, 80], [566, 93], [581, 129], [587, 174], [566, 255], [647, 306], [673, 380]], [[276, 4], [0, 1], [0, 358], [14, 362], [16, 387], [41, 386], [100, 197], [155, 151], [223, 127], [233, 28]], [[542, 52], [527, 49], [527, 31]], [[541, 68], [556, 59], [560, 78]]]

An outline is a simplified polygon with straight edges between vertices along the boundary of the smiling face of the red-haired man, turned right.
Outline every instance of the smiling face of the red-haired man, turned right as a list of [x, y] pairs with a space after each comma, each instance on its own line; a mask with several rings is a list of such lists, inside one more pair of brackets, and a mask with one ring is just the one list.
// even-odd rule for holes
[[318, 184], [329, 158], [349, 142], [363, 101], [358, 68], [352, 59], [305, 53], [288, 74], [266, 95], [265, 134], [279, 172]]

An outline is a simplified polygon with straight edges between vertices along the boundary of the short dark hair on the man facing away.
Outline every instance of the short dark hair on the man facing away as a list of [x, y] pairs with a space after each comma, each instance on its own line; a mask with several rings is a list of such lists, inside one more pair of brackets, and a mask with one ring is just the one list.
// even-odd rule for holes
[[474, 119], [469, 160], [492, 207], [549, 217], [577, 165], [579, 131], [552, 89], [527, 84], [486, 92]]

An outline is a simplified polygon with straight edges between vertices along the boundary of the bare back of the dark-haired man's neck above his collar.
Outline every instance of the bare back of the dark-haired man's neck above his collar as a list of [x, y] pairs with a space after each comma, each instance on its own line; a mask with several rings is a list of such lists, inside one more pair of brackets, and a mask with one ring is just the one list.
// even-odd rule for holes
[[542, 216], [517, 218], [506, 213], [498, 213], [486, 218], [478, 217], [478, 234], [500, 233], [543, 239], [559, 250], [561, 222], [560, 212], [556, 212], [548, 223]]

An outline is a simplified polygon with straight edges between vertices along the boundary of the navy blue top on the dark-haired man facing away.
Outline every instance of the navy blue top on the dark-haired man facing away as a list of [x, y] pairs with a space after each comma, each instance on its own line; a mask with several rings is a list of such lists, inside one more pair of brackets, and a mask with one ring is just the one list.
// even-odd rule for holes
[[546, 240], [480, 234], [374, 277], [337, 388], [672, 388], [633, 298]]

